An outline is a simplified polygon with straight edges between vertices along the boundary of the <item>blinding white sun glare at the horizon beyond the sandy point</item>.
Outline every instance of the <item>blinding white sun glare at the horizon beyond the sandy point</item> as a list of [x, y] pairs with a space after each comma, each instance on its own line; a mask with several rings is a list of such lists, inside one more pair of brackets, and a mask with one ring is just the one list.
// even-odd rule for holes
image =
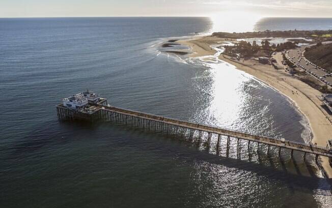
[[249, 12], [221, 12], [210, 18], [213, 21], [212, 32], [247, 32], [254, 30], [262, 16]]

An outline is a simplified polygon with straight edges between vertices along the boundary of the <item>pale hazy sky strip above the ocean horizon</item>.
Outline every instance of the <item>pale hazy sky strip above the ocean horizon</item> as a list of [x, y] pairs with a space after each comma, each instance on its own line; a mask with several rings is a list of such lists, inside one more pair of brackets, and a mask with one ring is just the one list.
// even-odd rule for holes
[[63, 16], [332, 17], [332, 0], [0, 0], [0, 17]]

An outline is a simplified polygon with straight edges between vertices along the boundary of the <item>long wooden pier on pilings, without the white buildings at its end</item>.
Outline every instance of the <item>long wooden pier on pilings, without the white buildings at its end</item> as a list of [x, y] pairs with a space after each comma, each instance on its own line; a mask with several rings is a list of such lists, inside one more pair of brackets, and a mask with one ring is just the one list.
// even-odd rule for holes
[[[293, 156], [293, 151], [304, 152], [303, 158], [306, 159], [306, 154], [311, 153], [316, 155], [316, 160], [318, 156], [328, 157], [329, 161], [332, 159], [332, 150], [324, 147], [313, 146], [298, 142], [292, 142], [287, 140], [275, 139], [262, 137], [258, 135], [246, 134], [238, 131], [233, 131], [226, 128], [212, 127], [208, 125], [202, 125], [198, 123], [192, 123], [188, 121], [182, 121], [132, 110], [127, 110], [123, 108], [117, 108], [114, 106], [103, 105], [104, 102], [98, 102], [95, 105], [89, 107], [85, 111], [76, 111], [64, 107], [62, 104], [57, 106], [58, 117], [61, 120], [88, 120], [88, 121], [116, 121], [123, 122], [127, 125], [137, 126], [147, 128], [150, 131], [161, 131], [167, 134], [177, 134], [193, 140], [194, 136], [198, 142], [201, 144], [204, 134], [207, 134], [207, 148], [210, 148], [211, 137], [216, 135], [216, 151], [218, 153], [220, 149], [220, 140], [222, 136], [227, 137], [227, 149], [229, 149], [230, 139], [237, 139], [237, 144], [241, 140], [250, 142], [257, 142], [259, 144], [268, 145], [267, 151], [269, 151], [270, 146], [275, 146], [279, 148], [279, 154], [282, 148], [290, 149], [291, 155]], [[238, 150], [239, 151], [239, 150]], [[239, 152], [238, 152], [239, 153]]]

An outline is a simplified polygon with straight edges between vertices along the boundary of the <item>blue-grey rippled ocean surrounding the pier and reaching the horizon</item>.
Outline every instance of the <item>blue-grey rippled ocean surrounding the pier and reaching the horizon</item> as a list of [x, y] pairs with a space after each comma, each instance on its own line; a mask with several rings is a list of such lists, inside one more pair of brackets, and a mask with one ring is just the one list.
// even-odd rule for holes
[[[331, 28], [332, 19], [317, 21], [270, 18], [252, 28]], [[308, 121], [255, 77], [161, 51], [167, 40], [213, 28], [204, 17], [0, 19], [0, 206], [331, 205], [330, 182], [298, 152], [278, 157], [242, 141], [237, 158], [234, 139], [229, 155], [223, 140], [216, 156], [123, 124], [58, 120], [62, 98], [90, 89], [118, 107], [309, 142]]]

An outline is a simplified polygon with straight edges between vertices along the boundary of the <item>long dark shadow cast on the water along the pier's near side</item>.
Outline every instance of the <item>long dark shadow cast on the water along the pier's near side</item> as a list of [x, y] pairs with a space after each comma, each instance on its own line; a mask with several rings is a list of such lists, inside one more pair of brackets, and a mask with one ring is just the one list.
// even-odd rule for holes
[[[191, 159], [200, 159], [208, 163], [223, 165], [229, 168], [255, 171], [260, 175], [267, 177], [270, 175], [274, 179], [279, 180], [293, 180], [294, 178], [307, 180], [306, 184], [298, 184], [298, 186], [308, 188], [308, 185], [311, 184], [313, 186], [310, 185], [309, 187], [315, 188], [317, 181], [321, 179], [321, 176], [318, 176], [319, 174], [317, 175], [319, 169], [315, 164], [314, 157], [311, 155], [307, 155], [306, 161], [303, 161], [303, 155], [296, 151], [294, 151], [293, 157], [291, 157], [289, 150], [282, 150], [281, 155], [278, 155], [278, 149], [275, 147], [270, 147], [267, 153], [266, 145], [260, 144], [260, 146], [258, 146], [255, 142], [247, 146], [247, 142], [243, 142], [242, 140], [241, 149], [238, 150], [236, 144], [234, 144], [236, 143], [235, 138], [231, 139], [230, 146], [227, 148], [227, 139], [224, 137], [220, 142], [220, 147], [217, 152], [215, 146], [216, 141], [211, 141], [210, 146], [208, 146], [207, 138], [204, 137], [204, 135], [201, 141], [199, 141], [198, 138], [190, 140], [184, 136], [167, 134], [165, 132], [154, 132], [153, 130], [127, 126], [116, 122], [90, 123], [62, 121], [60, 122], [60, 126], [65, 134], [57, 131], [49, 135], [46, 133], [49, 129], [38, 129], [19, 142], [16, 142], [14, 146], [4, 149], [4, 151], [11, 152], [7, 159], [18, 159], [20, 155], [24, 155], [27, 152], [31, 154], [39, 152], [49, 145], [62, 145], [68, 142], [74, 142], [75, 140], [79, 141], [80, 138], [86, 139], [86, 137], [81, 137], [81, 134], [89, 133], [87, 136], [93, 137], [94, 134], [98, 133], [97, 131], [99, 131], [100, 126], [107, 126], [116, 129], [116, 131], [131, 132], [139, 135], [143, 134], [147, 135], [149, 138], [153, 137], [158, 138], [158, 140], [171, 141], [172, 147], [174, 147], [173, 144], [176, 144], [175, 147], [177, 148], [175, 150], [181, 149], [183, 151], [185, 149], [182, 147], [186, 147], [186, 151], [175, 152], [177, 155], [183, 155], [183, 157], [189, 157], [189, 155], [191, 155]], [[73, 132], [76, 132], [76, 136], [70, 135]], [[216, 138], [214, 138], [214, 140], [215, 139]], [[211, 140], [213, 140], [213, 138]], [[91, 142], [94, 141], [92, 140]], [[127, 143], [131, 143], [132, 141], [130, 140], [123, 142], [124, 145], [132, 145]], [[240, 153], [237, 151], [240, 151]], [[39, 157], [42, 157], [42, 155], [39, 154]], [[277, 171], [278, 174], [274, 174], [275, 171]], [[311, 183], [309, 183], [310, 181]], [[327, 181], [329, 181], [329, 184], [332, 184], [331, 180], [327, 179]]]

